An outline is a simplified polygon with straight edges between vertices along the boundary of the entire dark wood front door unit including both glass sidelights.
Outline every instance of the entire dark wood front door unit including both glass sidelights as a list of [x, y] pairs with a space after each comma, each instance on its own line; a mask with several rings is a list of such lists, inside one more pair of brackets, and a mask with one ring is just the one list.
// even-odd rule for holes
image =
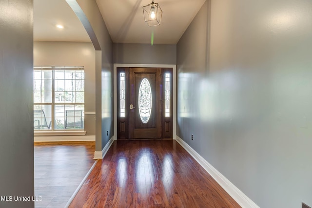
[[172, 71], [117, 67], [117, 139], [173, 138]]

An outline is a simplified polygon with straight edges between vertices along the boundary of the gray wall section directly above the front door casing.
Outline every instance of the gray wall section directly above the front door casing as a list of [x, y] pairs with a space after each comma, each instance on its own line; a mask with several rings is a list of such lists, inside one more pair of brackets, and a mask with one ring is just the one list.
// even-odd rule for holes
[[175, 44], [114, 43], [114, 63], [176, 64]]

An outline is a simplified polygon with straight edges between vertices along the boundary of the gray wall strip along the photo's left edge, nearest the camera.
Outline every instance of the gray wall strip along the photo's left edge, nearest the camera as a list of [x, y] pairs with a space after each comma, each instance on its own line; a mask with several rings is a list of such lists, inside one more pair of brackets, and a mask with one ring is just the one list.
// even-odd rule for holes
[[[34, 196], [33, 1], [0, 1], [0, 196]], [[0, 200], [2, 208], [34, 202]]]

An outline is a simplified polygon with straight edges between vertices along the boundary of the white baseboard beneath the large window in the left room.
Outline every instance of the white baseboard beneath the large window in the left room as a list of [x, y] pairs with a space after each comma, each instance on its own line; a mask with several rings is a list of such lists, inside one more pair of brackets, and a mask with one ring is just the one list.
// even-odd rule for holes
[[95, 141], [95, 135], [89, 136], [34, 136], [34, 142], [69, 142], [69, 141]]

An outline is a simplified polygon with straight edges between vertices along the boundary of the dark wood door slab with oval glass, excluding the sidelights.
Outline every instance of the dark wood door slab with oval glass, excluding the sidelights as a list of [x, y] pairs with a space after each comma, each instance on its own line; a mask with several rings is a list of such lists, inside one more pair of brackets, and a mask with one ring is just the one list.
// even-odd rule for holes
[[129, 68], [129, 139], [161, 138], [160, 88], [160, 68]]

